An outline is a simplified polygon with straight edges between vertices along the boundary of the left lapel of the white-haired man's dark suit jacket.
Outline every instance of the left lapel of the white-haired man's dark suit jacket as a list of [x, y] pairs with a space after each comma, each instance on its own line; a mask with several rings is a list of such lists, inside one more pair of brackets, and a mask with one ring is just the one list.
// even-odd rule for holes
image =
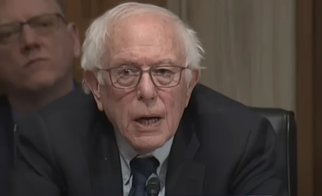
[[95, 127], [89, 163], [93, 196], [123, 195], [122, 171], [113, 126], [105, 114]]

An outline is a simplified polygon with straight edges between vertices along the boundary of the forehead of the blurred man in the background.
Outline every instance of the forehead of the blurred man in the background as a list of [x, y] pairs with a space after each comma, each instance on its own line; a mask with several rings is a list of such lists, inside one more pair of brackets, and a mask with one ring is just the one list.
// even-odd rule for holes
[[55, 0], [0, 0], [0, 23], [26, 21], [45, 13], [60, 13]]

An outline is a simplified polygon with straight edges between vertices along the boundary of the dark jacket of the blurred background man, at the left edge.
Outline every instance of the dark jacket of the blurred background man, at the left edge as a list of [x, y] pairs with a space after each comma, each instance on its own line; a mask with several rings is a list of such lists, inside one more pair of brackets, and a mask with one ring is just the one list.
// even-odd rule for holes
[[0, 96], [0, 195], [14, 166], [14, 122], [10, 104]]

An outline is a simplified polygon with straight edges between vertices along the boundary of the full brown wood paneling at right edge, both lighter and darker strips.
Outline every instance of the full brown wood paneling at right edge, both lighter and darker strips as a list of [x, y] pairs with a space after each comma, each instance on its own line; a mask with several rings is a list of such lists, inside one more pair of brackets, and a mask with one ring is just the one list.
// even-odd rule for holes
[[322, 195], [322, 2], [297, 0], [298, 195]]

